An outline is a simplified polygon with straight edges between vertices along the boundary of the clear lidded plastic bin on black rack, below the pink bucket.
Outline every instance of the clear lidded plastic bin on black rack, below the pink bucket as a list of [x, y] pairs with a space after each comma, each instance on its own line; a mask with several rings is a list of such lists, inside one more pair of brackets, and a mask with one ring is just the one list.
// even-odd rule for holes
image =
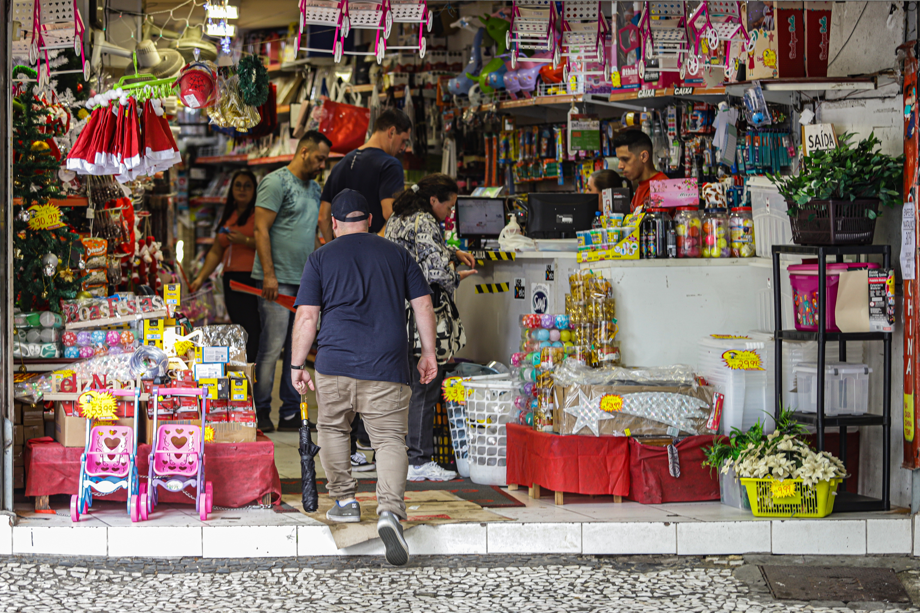
[[[799, 411], [818, 412], [818, 364], [796, 365]], [[826, 362], [824, 364], [824, 414], [861, 415], [868, 411], [868, 374], [865, 364]]]

